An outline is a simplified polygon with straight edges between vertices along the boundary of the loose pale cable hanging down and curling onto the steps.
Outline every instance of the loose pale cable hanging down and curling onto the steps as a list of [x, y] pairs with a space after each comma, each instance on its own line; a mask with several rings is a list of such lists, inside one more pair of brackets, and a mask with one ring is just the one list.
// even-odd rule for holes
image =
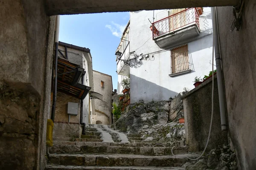
[[[214, 12], [216, 15], [217, 15], [217, 13], [216, 12]], [[213, 23], [214, 24], [216, 24], [216, 20], [215, 20], [215, 16], [213, 17]], [[212, 73], [214, 72], [214, 65], [213, 65], [213, 61], [214, 61], [214, 33], [215, 31], [213, 31], [213, 38], [212, 38]], [[213, 118], [213, 94], [214, 94], [214, 75], [212, 75], [212, 114], [211, 114], [211, 122], [210, 122], [210, 127], [209, 127], [209, 133], [208, 133], [208, 138], [207, 138], [207, 142], [206, 142], [206, 145], [205, 145], [205, 147], [204, 147], [204, 151], [201, 153], [201, 155], [198, 157], [198, 158], [195, 158], [195, 159], [192, 159], [192, 158], [189, 158], [189, 157], [187, 157], [187, 156], [175, 156], [174, 154], [173, 154], [173, 152], [172, 152], [172, 155], [173, 156], [175, 156], [175, 157], [182, 157], [182, 158], [187, 158], [187, 159], [190, 159], [190, 160], [193, 160], [193, 161], [196, 161], [196, 160], [198, 160], [198, 159], [200, 159], [203, 155], [204, 155], [204, 152], [205, 152], [205, 150], [206, 150], [206, 148], [207, 148], [207, 146], [208, 146], [208, 143], [209, 143], [209, 139], [210, 139], [210, 135], [211, 135], [211, 130], [212, 130], [212, 118]], [[175, 147], [175, 146], [174, 146]], [[173, 150], [173, 148], [174, 147], [172, 147], [172, 150]]]

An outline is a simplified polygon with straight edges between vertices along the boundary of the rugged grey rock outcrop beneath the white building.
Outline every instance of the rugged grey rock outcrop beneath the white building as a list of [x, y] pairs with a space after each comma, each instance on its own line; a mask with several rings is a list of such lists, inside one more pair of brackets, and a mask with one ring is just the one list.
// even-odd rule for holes
[[112, 127], [120, 131], [138, 133], [139, 130], [151, 129], [154, 125], [177, 122], [181, 117], [184, 117], [184, 112], [179, 94], [169, 101], [152, 101], [145, 104], [140, 100], [139, 103], [130, 104]]

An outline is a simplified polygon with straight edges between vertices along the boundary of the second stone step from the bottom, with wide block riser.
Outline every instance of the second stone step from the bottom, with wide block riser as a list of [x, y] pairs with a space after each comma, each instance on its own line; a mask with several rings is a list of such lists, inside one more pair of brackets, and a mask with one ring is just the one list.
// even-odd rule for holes
[[[198, 155], [178, 155], [195, 158]], [[180, 167], [189, 161], [174, 156], [49, 154], [49, 164], [73, 166]]]

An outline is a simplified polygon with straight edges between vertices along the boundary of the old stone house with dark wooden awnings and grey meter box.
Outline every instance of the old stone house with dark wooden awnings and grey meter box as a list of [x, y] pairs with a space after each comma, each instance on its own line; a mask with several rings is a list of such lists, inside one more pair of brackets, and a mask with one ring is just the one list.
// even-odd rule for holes
[[93, 91], [90, 49], [59, 42], [57, 69], [53, 137], [80, 137], [82, 127], [92, 123], [91, 112], [94, 111], [94, 101], [89, 94]]

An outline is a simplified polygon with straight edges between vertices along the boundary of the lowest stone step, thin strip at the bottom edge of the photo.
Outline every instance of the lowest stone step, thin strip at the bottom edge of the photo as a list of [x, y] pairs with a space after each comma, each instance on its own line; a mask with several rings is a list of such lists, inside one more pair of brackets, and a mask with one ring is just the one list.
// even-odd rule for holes
[[45, 170], [185, 170], [181, 167], [98, 167], [98, 166], [63, 166], [47, 165]]

